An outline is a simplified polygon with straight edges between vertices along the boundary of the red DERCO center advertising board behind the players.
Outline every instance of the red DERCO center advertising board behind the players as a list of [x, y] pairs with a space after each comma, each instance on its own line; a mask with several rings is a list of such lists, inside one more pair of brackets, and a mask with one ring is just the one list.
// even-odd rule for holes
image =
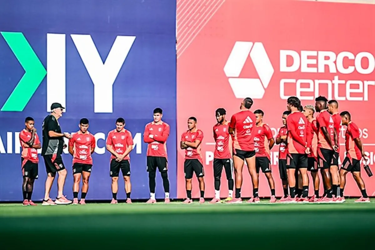
[[[207, 197], [214, 196], [212, 127], [214, 111], [223, 107], [227, 120], [252, 97], [252, 110], [262, 109], [275, 136], [282, 126], [286, 99], [298, 96], [303, 105], [324, 95], [339, 102], [357, 123], [375, 172], [375, 6], [282, 0], [177, 1], [177, 138], [195, 116], [204, 133], [202, 157]], [[340, 163], [344, 159], [345, 127], [340, 130]], [[179, 141], [178, 141], [179, 145]], [[179, 147], [178, 147], [179, 148]], [[276, 195], [282, 195], [278, 146], [272, 149]], [[177, 196], [186, 197], [184, 151], [178, 150]], [[362, 171], [369, 195], [375, 179]], [[252, 195], [244, 168], [242, 196]], [[194, 177], [195, 179], [195, 177]], [[228, 194], [223, 173], [221, 196]], [[310, 185], [310, 195], [312, 195]], [[323, 192], [323, 188], [321, 189]], [[260, 174], [260, 196], [270, 196]], [[345, 195], [360, 196], [351, 175]], [[193, 180], [193, 197], [199, 196]]]

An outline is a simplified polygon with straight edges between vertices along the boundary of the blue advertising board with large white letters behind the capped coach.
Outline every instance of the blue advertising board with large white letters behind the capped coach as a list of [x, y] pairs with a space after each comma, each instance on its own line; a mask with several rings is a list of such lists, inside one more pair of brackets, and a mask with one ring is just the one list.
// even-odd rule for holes
[[[110, 153], [105, 139], [123, 117], [135, 146], [130, 153], [132, 198], [149, 197], [144, 126], [163, 109], [171, 198], [176, 197], [175, 0], [3, 1], [0, 8], [0, 201], [22, 200], [18, 133], [31, 116], [40, 138], [53, 102], [66, 112], [63, 132], [77, 132], [83, 117], [97, 144], [87, 199], [111, 199]], [[64, 194], [72, 199], [72, 156]], [[44, 195], [39, 155], [33, 199]], [[51, 198], [57, 195], [55, 181]], [[119, 180], [118, 199], [126, 197]], [[157, 175], [156, 198], [163, 198]]]

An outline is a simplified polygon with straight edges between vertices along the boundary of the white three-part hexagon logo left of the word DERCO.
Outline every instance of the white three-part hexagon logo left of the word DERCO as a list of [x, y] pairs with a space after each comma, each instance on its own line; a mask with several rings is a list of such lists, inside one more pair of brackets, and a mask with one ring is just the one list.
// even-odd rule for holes
[[[248, 55], [255, 66], [259, 78], [239, 78]], [[236, 98], [251, 97], [261, 99], [275, 70], [263, 43], [237, 41], [225, 63], [224, 72]]]

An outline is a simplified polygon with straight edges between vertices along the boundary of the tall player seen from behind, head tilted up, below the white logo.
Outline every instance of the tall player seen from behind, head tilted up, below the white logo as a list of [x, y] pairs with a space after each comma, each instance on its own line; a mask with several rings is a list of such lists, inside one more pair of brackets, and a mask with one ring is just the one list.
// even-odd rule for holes
[[229, 123], [229, 133], [234, 135], [233, 140], [233, 163], [234, 176], [236, 178], [236, 192], [235, 197], [227, 203], [242, 203], [241, 187], [242, 187], [242, 168], [246, 160], [248, 170], [253, 183], [253, 197], [249, 199], [249, 203], [259, 203], [258, 196], [258, 174], [255, 168], [255, 115], [250, 111], [253, 105], [253, 100], [246, 97], [240, 105], [240, 112], [232, 115]]

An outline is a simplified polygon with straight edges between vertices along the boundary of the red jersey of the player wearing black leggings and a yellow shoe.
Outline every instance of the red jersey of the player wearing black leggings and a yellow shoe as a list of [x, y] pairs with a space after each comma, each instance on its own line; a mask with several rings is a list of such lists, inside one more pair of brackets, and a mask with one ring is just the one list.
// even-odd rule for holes
[[215, 151], [213, 157], [215, 159], [232, 158], [229, 150], [229, 121], [225, 124], [217, 123], [213, 126], [213, 138], [215, 140]]

